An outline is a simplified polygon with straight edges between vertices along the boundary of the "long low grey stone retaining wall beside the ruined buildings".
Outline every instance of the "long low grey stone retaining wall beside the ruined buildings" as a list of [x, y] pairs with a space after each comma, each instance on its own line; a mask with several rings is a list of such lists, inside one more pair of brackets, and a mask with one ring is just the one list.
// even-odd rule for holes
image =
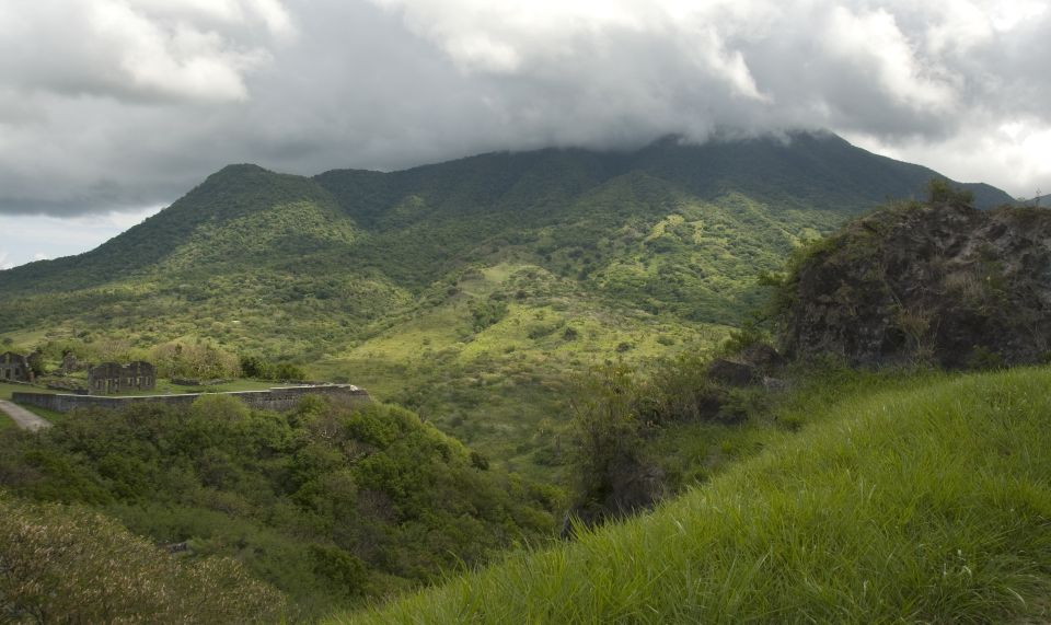
[[108, 408], [118, 409], [129, 404], [161, 402], [171, 405], [193, 404], [201, 395], [231, 395], [247, 404], [250, 408], [261, 410], [290, 410], [307, 395], [324, 395], [338, 397], [350, 402], [369, 402], [369, 393], [353, 384], [322, 384], [316, 386], [281, 386], [266, 391], [232, 391], [229, 393], [184, 393], [180, 395], [137, 395], [131, 397], [112, 397], [106, 395], [70, 395], [65, 393], [11, 393], [11, 401], [15, 404], [30, 404], [68, 413], [77, 408]]

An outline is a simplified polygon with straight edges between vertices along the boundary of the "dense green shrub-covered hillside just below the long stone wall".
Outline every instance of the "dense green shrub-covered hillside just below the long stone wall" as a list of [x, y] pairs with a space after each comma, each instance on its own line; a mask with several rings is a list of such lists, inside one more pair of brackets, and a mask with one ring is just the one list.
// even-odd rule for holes
[[[42, 435], [0, 430], [0, 509], [4, 493], [90, 506], [188, 563], [235, 559], [243, 591], [280, 590], [272, 599], [287, 598], [294, 622], [542, 541], [564, 506], [558, 489], [490, 468], [413, 413], [320, 397], [276, 414], [205, 395], [189, 408], [82, 412]], [[41, 520], [39, 548], [61, 518]], [[0, 548], [9, 557], [16, 536]], [[96, 558], [69, 556], [88, 569]], [[164, 571], [138, 581], [152, 575]], [[4, 610], [24, 581], [0, 570]]]

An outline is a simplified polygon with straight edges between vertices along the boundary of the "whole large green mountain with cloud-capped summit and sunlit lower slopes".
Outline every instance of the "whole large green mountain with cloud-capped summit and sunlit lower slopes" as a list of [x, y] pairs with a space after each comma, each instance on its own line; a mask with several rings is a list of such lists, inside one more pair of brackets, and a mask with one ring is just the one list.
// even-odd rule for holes
[[56, 362], [194, 342], [290, 360], [557, 466], [573, 372], [714, 345], [761, 302], [757, 275], [932, 177], [827, 134], [231, 165], [96, 250], [0, 271], [0, 336]]

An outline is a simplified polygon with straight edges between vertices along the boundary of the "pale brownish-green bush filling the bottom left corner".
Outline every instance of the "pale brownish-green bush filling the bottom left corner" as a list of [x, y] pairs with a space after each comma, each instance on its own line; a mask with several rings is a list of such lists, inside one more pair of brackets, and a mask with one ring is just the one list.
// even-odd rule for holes
[[176, 560], [79, 507], [0, 495], [0, 614], [36, 623], [274, 623], [285, 598], [235, 560]]

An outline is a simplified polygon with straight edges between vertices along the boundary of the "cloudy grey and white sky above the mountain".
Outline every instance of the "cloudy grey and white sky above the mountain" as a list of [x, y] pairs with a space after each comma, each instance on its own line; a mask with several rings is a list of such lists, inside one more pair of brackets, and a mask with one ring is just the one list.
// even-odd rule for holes
[[1051, 0], [2, 0], [0, 268], [229, 163], [827, 129], [1051, 189]]

